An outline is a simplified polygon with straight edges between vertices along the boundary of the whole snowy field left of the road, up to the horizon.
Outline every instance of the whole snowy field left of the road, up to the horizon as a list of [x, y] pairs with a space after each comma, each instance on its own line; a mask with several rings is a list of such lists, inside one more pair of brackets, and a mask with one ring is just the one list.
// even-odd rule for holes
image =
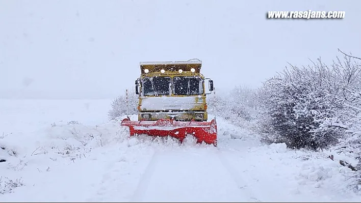
[[100, 139], [109, 143], [116, 131], [116, 124], [104, 124], [109, 102], [0, 99], [0, 193], [32, 186], [40, 173], [84, 159]]

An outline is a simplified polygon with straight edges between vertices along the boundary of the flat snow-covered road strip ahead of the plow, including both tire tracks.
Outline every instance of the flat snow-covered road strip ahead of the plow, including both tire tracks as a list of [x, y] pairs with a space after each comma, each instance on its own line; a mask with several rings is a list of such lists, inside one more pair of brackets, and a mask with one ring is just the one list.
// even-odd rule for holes
[[133, 201], [250, 201], [219, 152], [162, 151], [149, 162]]

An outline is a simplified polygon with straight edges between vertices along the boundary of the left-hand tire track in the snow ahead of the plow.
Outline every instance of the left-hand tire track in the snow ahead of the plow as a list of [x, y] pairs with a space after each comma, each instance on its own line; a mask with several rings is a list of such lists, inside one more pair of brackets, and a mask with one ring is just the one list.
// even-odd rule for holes
[[144, 191], [146, 191], [148, 188], [151, 175], [154, 172], [158, 161], [159, 161], [159, 152], [156, 151], [154, 152], [152, 158], [148, 163], [148, 166], [146, 167], [143, 175], [139, 180], [137, 189], [134, 191], [133, 196], [131, 198], [131, 202], [139, 202], [143, 199]]

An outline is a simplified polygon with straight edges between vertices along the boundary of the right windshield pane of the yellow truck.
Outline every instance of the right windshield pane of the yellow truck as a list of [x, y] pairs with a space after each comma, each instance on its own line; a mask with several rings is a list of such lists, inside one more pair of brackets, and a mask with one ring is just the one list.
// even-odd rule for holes
[[203, 94], [202, 78], [200, 77], [174, 77], [174, 95], [201, 95]]

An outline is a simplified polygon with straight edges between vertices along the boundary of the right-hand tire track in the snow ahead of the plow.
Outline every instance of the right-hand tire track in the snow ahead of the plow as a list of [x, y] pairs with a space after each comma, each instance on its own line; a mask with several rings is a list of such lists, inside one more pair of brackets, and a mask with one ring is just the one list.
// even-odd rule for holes
[[223, 152], [221, 150], [217, 151], [217, 155], [224, 168], [229, 172], [229, 175], [233, 178], [240, 189], [243, 189], [250, 196], [250, 201], [261, 202], [261, 200], [257, 199], [253, 192], [250, 189], [247, 189], [248, 185], [246, 185], [246, 181], [239, 175], [239, 172], [231, 166], [231, 164], [224, 158]]

